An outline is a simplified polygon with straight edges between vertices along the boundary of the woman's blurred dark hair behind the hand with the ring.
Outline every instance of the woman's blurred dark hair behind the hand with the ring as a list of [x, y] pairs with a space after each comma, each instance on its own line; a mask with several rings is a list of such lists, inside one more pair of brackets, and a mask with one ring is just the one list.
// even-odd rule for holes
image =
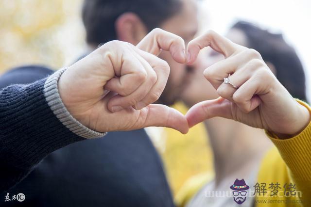
[[276, 78], [293, 97], [307, 100], [303, 66], [282, 34], [271, 33], [245, 21], [237, 22], [231, 29], [242, 31], [247, 38], [246, 46], [257, 50], [265, 62], [275, 66]]

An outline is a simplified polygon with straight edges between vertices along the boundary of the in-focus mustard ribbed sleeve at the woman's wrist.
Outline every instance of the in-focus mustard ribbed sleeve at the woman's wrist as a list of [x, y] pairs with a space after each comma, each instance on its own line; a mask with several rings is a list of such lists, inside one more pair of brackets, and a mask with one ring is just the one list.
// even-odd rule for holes
[[[297, 102], [308, 109], [308, 104], [301, 100]], [[285, 161], [295, 179], [311, 180], [311, 122], [298, 135], [289, 139], [279, 139], [275, 134], [266, 131], [271, 141], [276, 145], [282, 159]]]

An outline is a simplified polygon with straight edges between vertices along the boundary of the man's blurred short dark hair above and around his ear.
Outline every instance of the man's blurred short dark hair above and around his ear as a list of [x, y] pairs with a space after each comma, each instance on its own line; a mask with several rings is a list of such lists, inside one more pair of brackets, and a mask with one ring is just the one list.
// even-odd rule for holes
[[85, 0], [82, 19], [86, 42], [98, 45], [117, 39], [115, 22], [126, 12], [138, 15], [151, 31], [180, 10], [180, 0]]

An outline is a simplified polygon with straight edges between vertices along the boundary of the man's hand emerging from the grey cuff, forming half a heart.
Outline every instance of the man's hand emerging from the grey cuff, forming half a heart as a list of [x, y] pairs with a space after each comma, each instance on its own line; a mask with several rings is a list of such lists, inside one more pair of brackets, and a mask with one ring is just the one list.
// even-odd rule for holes
[[170, 74], [169, 65], [155, 56], [161, 49], [185, 63], [182, 38], [160, 29], [137, 47], [121, 41], [104, 44], [61, 75], [63, 103], [80, 123], [99, 132], [161, 126], [187, 133], [188, 122], [180, 112], [151, 104]]

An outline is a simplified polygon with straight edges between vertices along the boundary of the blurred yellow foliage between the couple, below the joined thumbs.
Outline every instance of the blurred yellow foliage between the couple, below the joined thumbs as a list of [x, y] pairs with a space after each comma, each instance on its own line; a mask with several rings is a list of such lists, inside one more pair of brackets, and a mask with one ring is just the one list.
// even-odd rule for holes
[[[182, 113], [188, 111], [182, 103], [173, 107]], [[165, 133], [166, 147], [161, 155], [173, 194], [176, 194], [193, 175], [212, 171], [213, 156], [202, 123], [190, 128], [185, 135], [171, 128], [165, 128]]]

